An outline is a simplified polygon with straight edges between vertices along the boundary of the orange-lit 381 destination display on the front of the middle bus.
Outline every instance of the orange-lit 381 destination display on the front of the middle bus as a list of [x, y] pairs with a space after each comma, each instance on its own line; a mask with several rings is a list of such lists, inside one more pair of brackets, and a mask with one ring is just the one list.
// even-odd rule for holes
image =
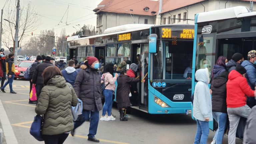
[[183, 29], [172, 31], [171, 28], [162, 28], [163, 39], [194, 39], [194, 29]]

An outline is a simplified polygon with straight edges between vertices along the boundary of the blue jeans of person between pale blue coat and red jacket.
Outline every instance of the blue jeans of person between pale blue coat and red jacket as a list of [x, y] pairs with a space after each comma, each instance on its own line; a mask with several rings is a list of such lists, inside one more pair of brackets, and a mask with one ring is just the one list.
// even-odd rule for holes
[[214, 135], [213, 140], [216, 141], [216, 144], [222, 144], [224, 131], [227, 127], [227, 113], [222, 112], [212, 112], [214, 120], [218, 123], [218, 129]]

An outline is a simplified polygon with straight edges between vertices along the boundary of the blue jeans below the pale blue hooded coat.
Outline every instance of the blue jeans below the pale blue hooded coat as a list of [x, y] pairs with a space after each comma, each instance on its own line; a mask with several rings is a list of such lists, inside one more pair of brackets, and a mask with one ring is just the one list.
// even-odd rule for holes
[[209, 135], [209, 122], [196, 120], [197, 131], [194, 144], [207, 144]]

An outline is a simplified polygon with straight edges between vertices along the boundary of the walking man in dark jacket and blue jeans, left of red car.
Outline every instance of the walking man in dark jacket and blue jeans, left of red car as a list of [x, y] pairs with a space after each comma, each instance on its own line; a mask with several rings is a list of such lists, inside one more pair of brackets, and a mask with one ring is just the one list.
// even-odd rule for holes
[[8, 59], [6, 60], [6, 70], [7, 70], [6, 73], [8, 76], [8, 81], [0, 89], [4, 93], [5, 93], [4, 88], [9, 84], [10, 93], [16, 94], [16, 92], [14, 92], [12, 89], [12, 83], [13, 83], [14, 74], [15, 74], [15, 67], [14, 67], [13, 61], [14, 61], [14, 54], [9, 54]]

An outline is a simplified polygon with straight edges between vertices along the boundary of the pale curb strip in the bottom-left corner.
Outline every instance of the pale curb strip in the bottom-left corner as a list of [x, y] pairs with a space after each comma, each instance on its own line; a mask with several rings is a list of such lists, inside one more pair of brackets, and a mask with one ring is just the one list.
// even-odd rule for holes
[[13, 132], [11, 123], [7, 117], [2, 101], [0, 100], [0, 121], [3, 128], [3, 134], [7, 144], [18, 144], [18, 141]]

